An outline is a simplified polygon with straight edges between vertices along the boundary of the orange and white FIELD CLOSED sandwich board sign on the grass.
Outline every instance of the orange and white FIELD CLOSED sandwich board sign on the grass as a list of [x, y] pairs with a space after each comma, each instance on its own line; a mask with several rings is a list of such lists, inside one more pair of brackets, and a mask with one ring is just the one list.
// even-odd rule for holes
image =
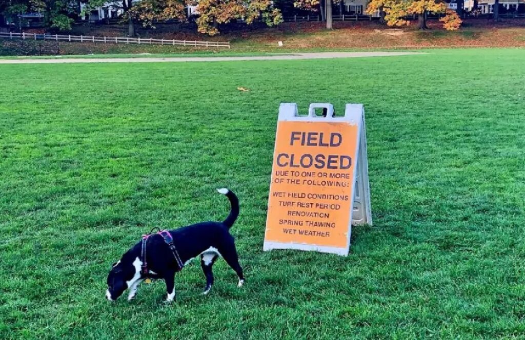
[[333, 116], [332, 104], [310, 104], [300, 116], [297, 104], [281, 103], [264, 250], [346, 256], [352, 224], [372, 224], [363, 105]]

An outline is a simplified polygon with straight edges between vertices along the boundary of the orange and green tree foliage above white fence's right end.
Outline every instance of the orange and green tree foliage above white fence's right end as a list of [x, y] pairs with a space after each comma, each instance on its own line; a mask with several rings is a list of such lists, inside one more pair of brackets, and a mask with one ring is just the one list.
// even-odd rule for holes
[[200, 33], [216, 35], [218, 24], [226, 24], [234, 19], [244, 19], [247, 24], [261, 20], [268, 26], [282, 23], [279, 9], [270, 0], [198, 0], [196, 20]]

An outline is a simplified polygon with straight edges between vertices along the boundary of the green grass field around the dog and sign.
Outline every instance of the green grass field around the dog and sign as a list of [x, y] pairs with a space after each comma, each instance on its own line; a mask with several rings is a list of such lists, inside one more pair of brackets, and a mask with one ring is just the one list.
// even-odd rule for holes
[[[0, 65], [0, 338], [523, 338], [525, 50]], [[242, 86], [251, 89], [239, 92]], [[365, 105], [373, 227], [349, 257], [262, 252], [280, 102]], [[247, 282], [198, 262], [132, 302], [111, 263], [223, 219]]]

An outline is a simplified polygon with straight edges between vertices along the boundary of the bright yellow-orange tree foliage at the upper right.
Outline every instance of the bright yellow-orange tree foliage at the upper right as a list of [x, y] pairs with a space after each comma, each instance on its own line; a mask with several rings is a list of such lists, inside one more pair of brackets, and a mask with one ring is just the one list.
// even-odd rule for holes
[[371, 0], [366, 8], [366, 13], [372, 15], [376, 10], [383, 10], [388, 26], [408, 25], [405, 18], [417, 14], [419, 29], [427, 29], [425, 12], [444, 13], [439, 21], [447, 30], [457, 30], [461, 26], [461, 18], [446, 3], [440, 0]]

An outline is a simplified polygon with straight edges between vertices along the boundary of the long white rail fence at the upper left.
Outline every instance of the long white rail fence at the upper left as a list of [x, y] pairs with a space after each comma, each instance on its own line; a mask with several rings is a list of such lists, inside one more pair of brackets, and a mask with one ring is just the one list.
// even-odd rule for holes
[[24, 40], [54, 40], [54, 41], [80, 41], [80, 42], [103, 42], [104, 44], [152, 44], [152, 45], [182, 45], [193, 47], [226, 47], [230, 48], [229, 41], [197, 41], [197, 40], [171, 40], [153, 38], [128, 38], [128, 37], [95, 37], [95, 36], [72, 36], [60, 34], [38, 34], [38, 33], [0, 33], [0, 38], [24, 39]]

